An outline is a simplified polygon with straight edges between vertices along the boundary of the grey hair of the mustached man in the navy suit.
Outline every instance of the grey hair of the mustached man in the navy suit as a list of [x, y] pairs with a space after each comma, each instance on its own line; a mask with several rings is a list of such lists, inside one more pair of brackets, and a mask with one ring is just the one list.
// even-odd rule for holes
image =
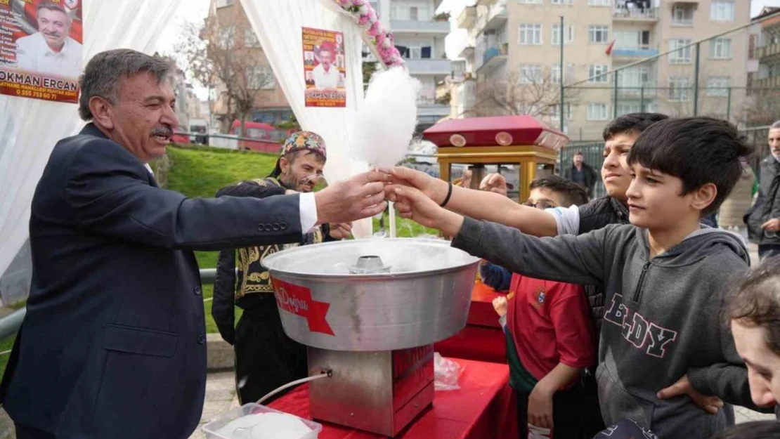
[[95, 96], [104, 98], [110, 104], [116, 104], [119, 101], [119, 81], [122, 78], [149, 72], [161, 83], [168, 80], [173, 71], [175, 67], [172, 62], [158, 56], [131, 49], [101, 51], [90, 59], [84, 74], [79, 78], [79, 115], [87, 122], [92, 120], [90, 99]]

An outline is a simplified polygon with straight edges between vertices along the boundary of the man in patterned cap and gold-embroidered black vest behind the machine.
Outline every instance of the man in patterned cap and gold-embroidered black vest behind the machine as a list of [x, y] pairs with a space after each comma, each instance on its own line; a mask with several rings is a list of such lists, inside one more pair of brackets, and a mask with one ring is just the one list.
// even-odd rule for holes
[[[322, 178], [325, 142], [317, 133], [298, 131], [282, 144], [274, 171], [265, 179], [219, 189], [217, 196], [266, 198], [285, 193], [310, 193]], [[306, 346], [285, 335], [274, 287], [263, 259], [285, 248], [348, 238], [351, 225], [321, 225], [300, 243], [271, 243], [219, 252], [211, 315], [222, 338], [236, 349], [236, 389], [242, 404], [255, 402], [290, 381], [307, 377]], [[236, 326], [235, 306], [243, 309]], [[275, 395], [274, 398], [282, 396]], [[269, 399], [267, 402], [272, 401]]]

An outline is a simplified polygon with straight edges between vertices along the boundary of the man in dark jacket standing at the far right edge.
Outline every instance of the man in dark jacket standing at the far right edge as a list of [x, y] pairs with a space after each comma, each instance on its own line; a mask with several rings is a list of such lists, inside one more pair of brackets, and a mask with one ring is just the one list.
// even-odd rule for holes
[[780, 255], [780, 121], [771, 125], [768, 137], [771, 154], [761, 161], [758, 198], [745, 218], [762, 260]]

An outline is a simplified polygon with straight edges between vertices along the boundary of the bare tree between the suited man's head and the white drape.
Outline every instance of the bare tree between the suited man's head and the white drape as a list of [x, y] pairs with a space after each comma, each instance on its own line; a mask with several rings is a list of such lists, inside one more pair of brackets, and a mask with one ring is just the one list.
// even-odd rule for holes
[[227, 132], [232, 121], [239, 119], [239, 135], [243, 136], [246, 119], [275, 88], [274, 73], [250, 24], [238, 14], [223, 22], [210, 16], [200, 27], [185, 28], [176, 51], [193, 80], [221, 90], [222, 131]]

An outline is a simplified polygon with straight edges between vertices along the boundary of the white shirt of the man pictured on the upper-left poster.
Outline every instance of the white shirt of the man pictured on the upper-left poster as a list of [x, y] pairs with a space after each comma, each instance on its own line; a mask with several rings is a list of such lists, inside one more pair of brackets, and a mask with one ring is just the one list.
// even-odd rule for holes
[[81, 54], [81, 44], [71, 37], [66, 37], [58, 52], [48, 47], [40, 32], [16, 40], [17, 68], [31, 73], [78, 78], [82, 71]]

